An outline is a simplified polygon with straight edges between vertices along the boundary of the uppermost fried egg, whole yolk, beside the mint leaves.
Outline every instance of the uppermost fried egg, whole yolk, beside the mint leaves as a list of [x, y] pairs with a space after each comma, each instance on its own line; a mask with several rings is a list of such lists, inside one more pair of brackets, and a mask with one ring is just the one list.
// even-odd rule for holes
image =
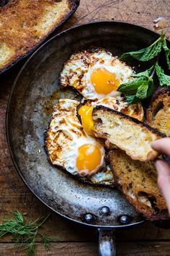
[[61, 72], [61, 85], [72, 86], [86, 99], [118, 97], [120, 84], [133, 80], [133, 69], [109, 51], [96, 48], [71, 55]]

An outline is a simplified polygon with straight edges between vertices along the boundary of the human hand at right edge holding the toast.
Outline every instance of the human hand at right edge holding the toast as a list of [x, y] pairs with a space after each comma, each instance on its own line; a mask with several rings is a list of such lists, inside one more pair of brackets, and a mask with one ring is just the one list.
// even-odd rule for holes
[[[155, 140], [151, 146], [153, 150], [170, 156], [170, 138]], [[155, 166], [158, 171], [158, 186], [164, 195], [170, 214], [170, 165], [166, 161], [158, 159]]]

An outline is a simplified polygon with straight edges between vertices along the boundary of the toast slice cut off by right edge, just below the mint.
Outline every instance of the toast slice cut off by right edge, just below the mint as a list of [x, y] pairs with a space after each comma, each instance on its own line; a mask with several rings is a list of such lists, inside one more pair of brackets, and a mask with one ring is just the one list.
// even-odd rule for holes
[[170, 136], [170, 89], [160, 88], [153, 95], [147, 112], [147, 123]]

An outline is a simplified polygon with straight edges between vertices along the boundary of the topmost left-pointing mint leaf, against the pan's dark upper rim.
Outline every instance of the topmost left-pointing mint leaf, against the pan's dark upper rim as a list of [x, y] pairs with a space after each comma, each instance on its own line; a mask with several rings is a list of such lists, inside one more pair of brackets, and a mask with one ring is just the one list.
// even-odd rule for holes
[[138, 51], [131, 51], [125, 54], [122, 54], [120, 59], [127, 60], [130, 57], [138, 59], [138, 61], [150, 61], [155, 56], [157, 56], [161, 51], [162, 38], [158, 38], [151, 46], [147, 48], [140, 49]]

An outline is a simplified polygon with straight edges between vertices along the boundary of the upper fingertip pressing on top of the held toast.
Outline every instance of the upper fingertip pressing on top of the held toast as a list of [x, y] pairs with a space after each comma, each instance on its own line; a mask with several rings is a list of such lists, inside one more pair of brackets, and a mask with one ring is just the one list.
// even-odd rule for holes
[[164, 155], [170, 155], [170, 138], [155, 140], [151, 147]]

